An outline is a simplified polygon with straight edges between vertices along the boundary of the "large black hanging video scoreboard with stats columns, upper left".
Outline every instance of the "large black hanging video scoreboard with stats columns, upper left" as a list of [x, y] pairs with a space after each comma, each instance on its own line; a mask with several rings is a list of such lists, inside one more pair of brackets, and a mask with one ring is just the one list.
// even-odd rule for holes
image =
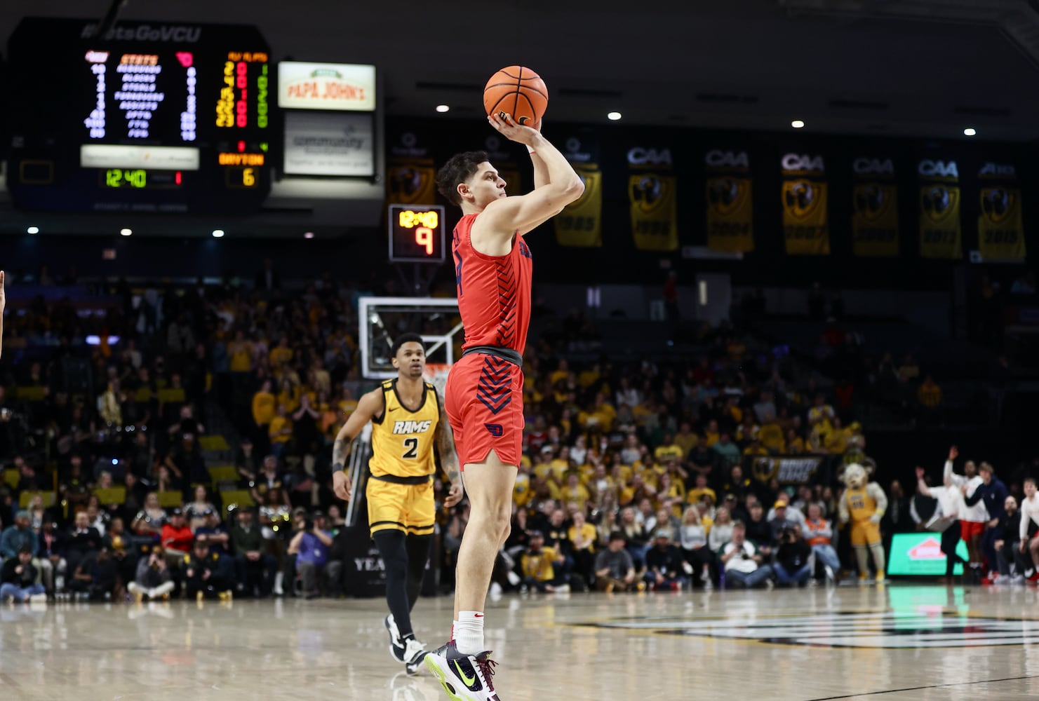
[[255, 27], [26, 18], [8, 56], [18, 207], [236, 214], [267, 196], [282, 139]]

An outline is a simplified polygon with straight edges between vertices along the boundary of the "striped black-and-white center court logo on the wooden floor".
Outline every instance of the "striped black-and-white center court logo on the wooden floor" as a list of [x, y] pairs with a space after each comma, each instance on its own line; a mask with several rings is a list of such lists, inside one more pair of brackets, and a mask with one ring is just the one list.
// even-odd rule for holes
[[754, 640], [773, 645], [848, 648], [941, 648], [1039, 644], [1039, 621], [921, 612], [838, 612], [809, 616], [623, 619], [598, 627]]

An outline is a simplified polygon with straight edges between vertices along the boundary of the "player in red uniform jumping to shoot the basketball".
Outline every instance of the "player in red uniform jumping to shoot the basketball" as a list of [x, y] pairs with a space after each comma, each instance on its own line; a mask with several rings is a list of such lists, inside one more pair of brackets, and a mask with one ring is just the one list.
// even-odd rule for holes
[[570, 164], [541, 136], [539, 123], [521, 126], [497, 113], [487, 119], [504, 137], [527, 146], [534, 190], [506, 196], [505, 181], [483, 152], [454, 156], [436, 176], [441, 194], [462, 211], [452, 247], [465, 339], [448, 375], [445, 407], [471, 510], [458, 552], [452, 638], [426, 655], [426, 667], [456, 701], [498, 701], [495, 663], [483, 644], [483, 612], [495, 558], [509, 535], [524, 429], [532, 268], [524, 234], [584, 192]]

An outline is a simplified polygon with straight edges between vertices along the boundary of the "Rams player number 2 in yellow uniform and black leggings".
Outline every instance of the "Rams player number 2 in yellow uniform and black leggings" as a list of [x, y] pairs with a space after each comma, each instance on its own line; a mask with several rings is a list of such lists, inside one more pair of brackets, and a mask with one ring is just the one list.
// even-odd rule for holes
[[411, 609], [419, 600], [433, 539], [434, 449], [451, 480], [445, 507], [461, 501], [462, 487], [444, 403], [423, 375], [422, 336], [404, 333], [390, 350], [397, 377], [361, 398], [332, 443], [332, 488], [340, 498], [350, 500], [344, 469], [347, 450], [365, 424], [372, 422], [371, 479], [365, 495], [368, 528], [387, 568], [390, 615], [383, 624], [390, 633], [391, 654], [404, 663], [408, 674], [415, 674], [426, 656], [426, 646], [415, 638]]

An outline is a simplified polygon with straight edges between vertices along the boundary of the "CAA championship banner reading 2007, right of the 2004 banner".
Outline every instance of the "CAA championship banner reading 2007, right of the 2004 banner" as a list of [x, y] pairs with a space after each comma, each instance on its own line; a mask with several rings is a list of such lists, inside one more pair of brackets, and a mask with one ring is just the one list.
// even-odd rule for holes
[[782, 231], [789, 255], [828, 255], [826, 165], [822, 156], [785, 154], [782, 166]]

